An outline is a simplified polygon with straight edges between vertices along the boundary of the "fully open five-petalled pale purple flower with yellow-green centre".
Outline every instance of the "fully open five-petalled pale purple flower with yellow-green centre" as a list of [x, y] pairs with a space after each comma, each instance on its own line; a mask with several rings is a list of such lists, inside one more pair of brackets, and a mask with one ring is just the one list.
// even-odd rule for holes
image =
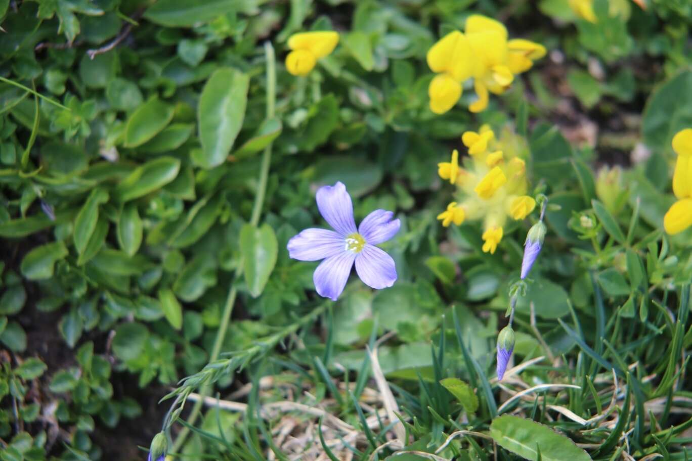
[[365, 216], [356, 229], [353, 203], [345, 185], [320, 187], [317, 207], [334, 231], [305, 229], [289, 240], [289, 256], [300, 261], [324, 260], [313, 274], [313, 282], [320, 296], [336, 301], [346, 286], [351, 267], [365, 285], [377, 290], [394, 285], [397, 268], [390, 255], [375, 245], [392, 238], [401, 222], [392, 220], [394, 213], [376, 209]]

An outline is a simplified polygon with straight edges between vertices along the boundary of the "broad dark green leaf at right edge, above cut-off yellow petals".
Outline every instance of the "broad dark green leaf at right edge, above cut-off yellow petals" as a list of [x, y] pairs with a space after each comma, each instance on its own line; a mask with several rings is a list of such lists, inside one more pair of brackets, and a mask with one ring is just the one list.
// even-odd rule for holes
[[672, 156], [673, 136], [689, 126], [692, 126], [692, 70], [684, 70], [651, 93], [641, 120], [641, 134], [650, 149]]

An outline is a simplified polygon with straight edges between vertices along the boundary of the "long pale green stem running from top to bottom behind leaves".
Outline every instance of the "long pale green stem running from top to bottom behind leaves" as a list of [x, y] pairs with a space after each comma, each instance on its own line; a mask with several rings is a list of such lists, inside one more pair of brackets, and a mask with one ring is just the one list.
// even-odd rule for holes
[[[274, 48], [268, 41], [264, 44], [264, 55], [266, 57], [266, 120], [274, 117], [275, 106], [276, 106], [276, 62], [274, 55]], [[257, 225], [260, 222], [260, 214], [262, 213], [262, 205], [264, 204], [264, 196], [266, 194], [266, 182], [269, 175], [269, 165], [271, 164], [271, 143], [264, 149], [262, 153], [262, 165], [260, 167], [260, 178], [257, 181], [257, 192], [255, 194], [255, 203], [253, 205], [253, 213], [250, 218], [250, 223], [252, 225]], [[235, 305], [235, 298], [237, 296], [237, 290], [235, 288], [235, 281], [237, 281], [243, 274], [243, 260], [240, 259], [238, 263], [238, 268], [235, 270], [235, 275], [233, 280], [230, 282], [230, 289], [228, 290], [228, 297], [226, 297], [226, 305], [224, 307], [224, 314], [221, 315], [221, 323], [219, 323], [219, 330], [217, 331], [216, 338], [214, 340], [214, 346], [212, 348], [211, 355], [209, 356], [209, 361], [215, 361], [219, 358], [219, 353], [221, 352], [221, 346], [224, 344], [224, 338], [226, 337], [226, 330], [228, 330], [228, 323], [230, 322], [230, 316], [233, 314], [233, 305]], [[197, 417], [202, 408], [204, 401], [203, 397], [207, 397], [212, 391], [212, 384], [208, 384], [201, 388], [200, 395], [201, 399], [194, 402], [192, 406], [192, 411], [190, 411], [190, 416], [188, 417], [188, 424], [193, 426], [197, 422]], [[183, 427], [178, 437], [176, 438], [172, 449], [172, 453], [178, 453], [185, 443], [185, 438], [188, 437], [190, 429], [188, 426]]]

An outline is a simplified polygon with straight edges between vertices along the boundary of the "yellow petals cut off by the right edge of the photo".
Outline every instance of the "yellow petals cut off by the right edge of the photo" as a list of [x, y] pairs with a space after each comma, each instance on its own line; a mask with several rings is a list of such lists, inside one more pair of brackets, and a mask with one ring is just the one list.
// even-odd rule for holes
[[671, 235], [692, 226], [692, 128], [684, 129], [673, 137], [673, 151], [677, 153], [673, 194], [678, 200], [663, 218], [663, 227]]

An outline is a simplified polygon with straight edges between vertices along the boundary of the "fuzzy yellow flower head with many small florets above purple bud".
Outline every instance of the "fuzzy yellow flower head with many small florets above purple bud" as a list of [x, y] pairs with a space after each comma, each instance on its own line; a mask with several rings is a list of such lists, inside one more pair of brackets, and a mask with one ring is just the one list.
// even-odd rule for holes
[[466, 219], [483, 220], [483, 251], [495, 253], [502, 240], [507, 217], [521, 220], [536, 208], [536, 200], [527, 196], [527, 179], [521, 143], [511, 131], [495, 138], [484, 125], [477, 133], [466, 131], [462, 142], [468, 158], [459, 166], [459, 153], [452, 152], [449, 162], [437, 164], [440, 178], [457, 185], [459, 200], [437, 216], [444, 227], [460, 225]]

